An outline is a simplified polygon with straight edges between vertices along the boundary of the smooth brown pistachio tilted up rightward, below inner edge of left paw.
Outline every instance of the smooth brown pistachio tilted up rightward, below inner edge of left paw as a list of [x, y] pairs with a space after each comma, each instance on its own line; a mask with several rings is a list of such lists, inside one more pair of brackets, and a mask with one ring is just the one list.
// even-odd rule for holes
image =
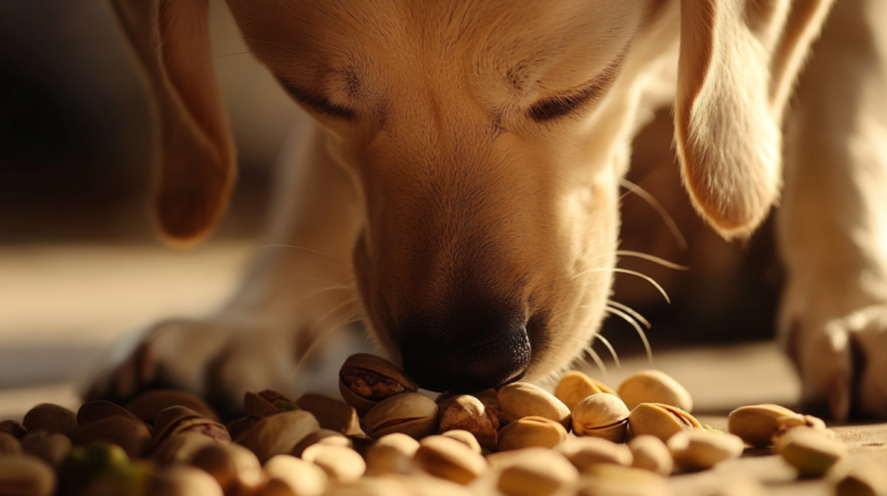
[[246, 446], [265, 463], [274, 455], [288, 454], [293, 446], [308, 434], [320, 428], [308, 412], [295, 410], [266, 416], [241, 434], [237, 442]]

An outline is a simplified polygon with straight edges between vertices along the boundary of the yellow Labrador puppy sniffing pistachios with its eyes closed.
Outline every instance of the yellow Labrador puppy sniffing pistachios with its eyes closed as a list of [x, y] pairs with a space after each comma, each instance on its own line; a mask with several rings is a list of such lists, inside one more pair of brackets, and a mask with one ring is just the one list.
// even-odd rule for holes
[[[207, 1], [112, 4], [153, 94], [156, 226], [194, 245], [235, 180]], [[887, 416], [883, 2], [227, 4], [314, 120], [264, 238], [289, 249], [258, 250], [217, 314], [156, 324], [100, 395], [287, 391], [355, 319], [431, 391], [563, 371], [605, 314], [632, 137], [673, 105], [683, 184], [714, 230], [747, 239], [781, 204], [778, 340], [804, 399]]]

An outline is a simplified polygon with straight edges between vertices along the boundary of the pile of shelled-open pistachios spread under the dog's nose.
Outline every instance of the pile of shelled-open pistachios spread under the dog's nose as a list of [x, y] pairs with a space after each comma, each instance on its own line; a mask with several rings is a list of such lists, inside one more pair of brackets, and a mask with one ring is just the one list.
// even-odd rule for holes
[[[778, 405], [735, 410], [728, 433], [702, 425], [687, 391], [653, 370], [615, 391], [569, 372], [553, 394], [514, 382], [432, 400], [361, 353], [343, 365], [339, 390], [345, 402], [246, 393], [245, 415], [226, 424], [173, 390], [77, 413], [41, 404], [0, 423], [0, 495], [667, 495], [671, 474], [746, 446], [772, 447], [799, 477], [834, 472], [846, 455], [820, 420]], [[836, 492], [879, 494], [844, 493], [868, 480], [852, 471]]]

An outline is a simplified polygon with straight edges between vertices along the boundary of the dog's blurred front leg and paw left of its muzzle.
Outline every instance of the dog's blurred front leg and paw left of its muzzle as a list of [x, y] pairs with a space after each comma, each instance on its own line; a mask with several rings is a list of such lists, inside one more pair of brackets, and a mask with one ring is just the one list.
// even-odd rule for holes
[[231, 301], [207, 319], [152, 327], [93, 396], [125, 399], [172, 384], [235, 405], [245, 391], [294, 391], [298, 358], [357, 312], [349, 261], [355, 195], [322, 133], [313, 134], [283, 154], [267, 235]]

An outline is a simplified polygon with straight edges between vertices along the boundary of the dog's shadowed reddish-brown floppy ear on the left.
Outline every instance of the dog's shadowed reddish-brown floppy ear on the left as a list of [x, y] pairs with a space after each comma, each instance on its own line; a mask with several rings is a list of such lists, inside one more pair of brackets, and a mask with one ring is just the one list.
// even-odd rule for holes
[[112, 0], [154, 100], [154, 214], [171, 244], [205, 237], [227, 206], [235, 153], [215, 82], [207, 0]]

